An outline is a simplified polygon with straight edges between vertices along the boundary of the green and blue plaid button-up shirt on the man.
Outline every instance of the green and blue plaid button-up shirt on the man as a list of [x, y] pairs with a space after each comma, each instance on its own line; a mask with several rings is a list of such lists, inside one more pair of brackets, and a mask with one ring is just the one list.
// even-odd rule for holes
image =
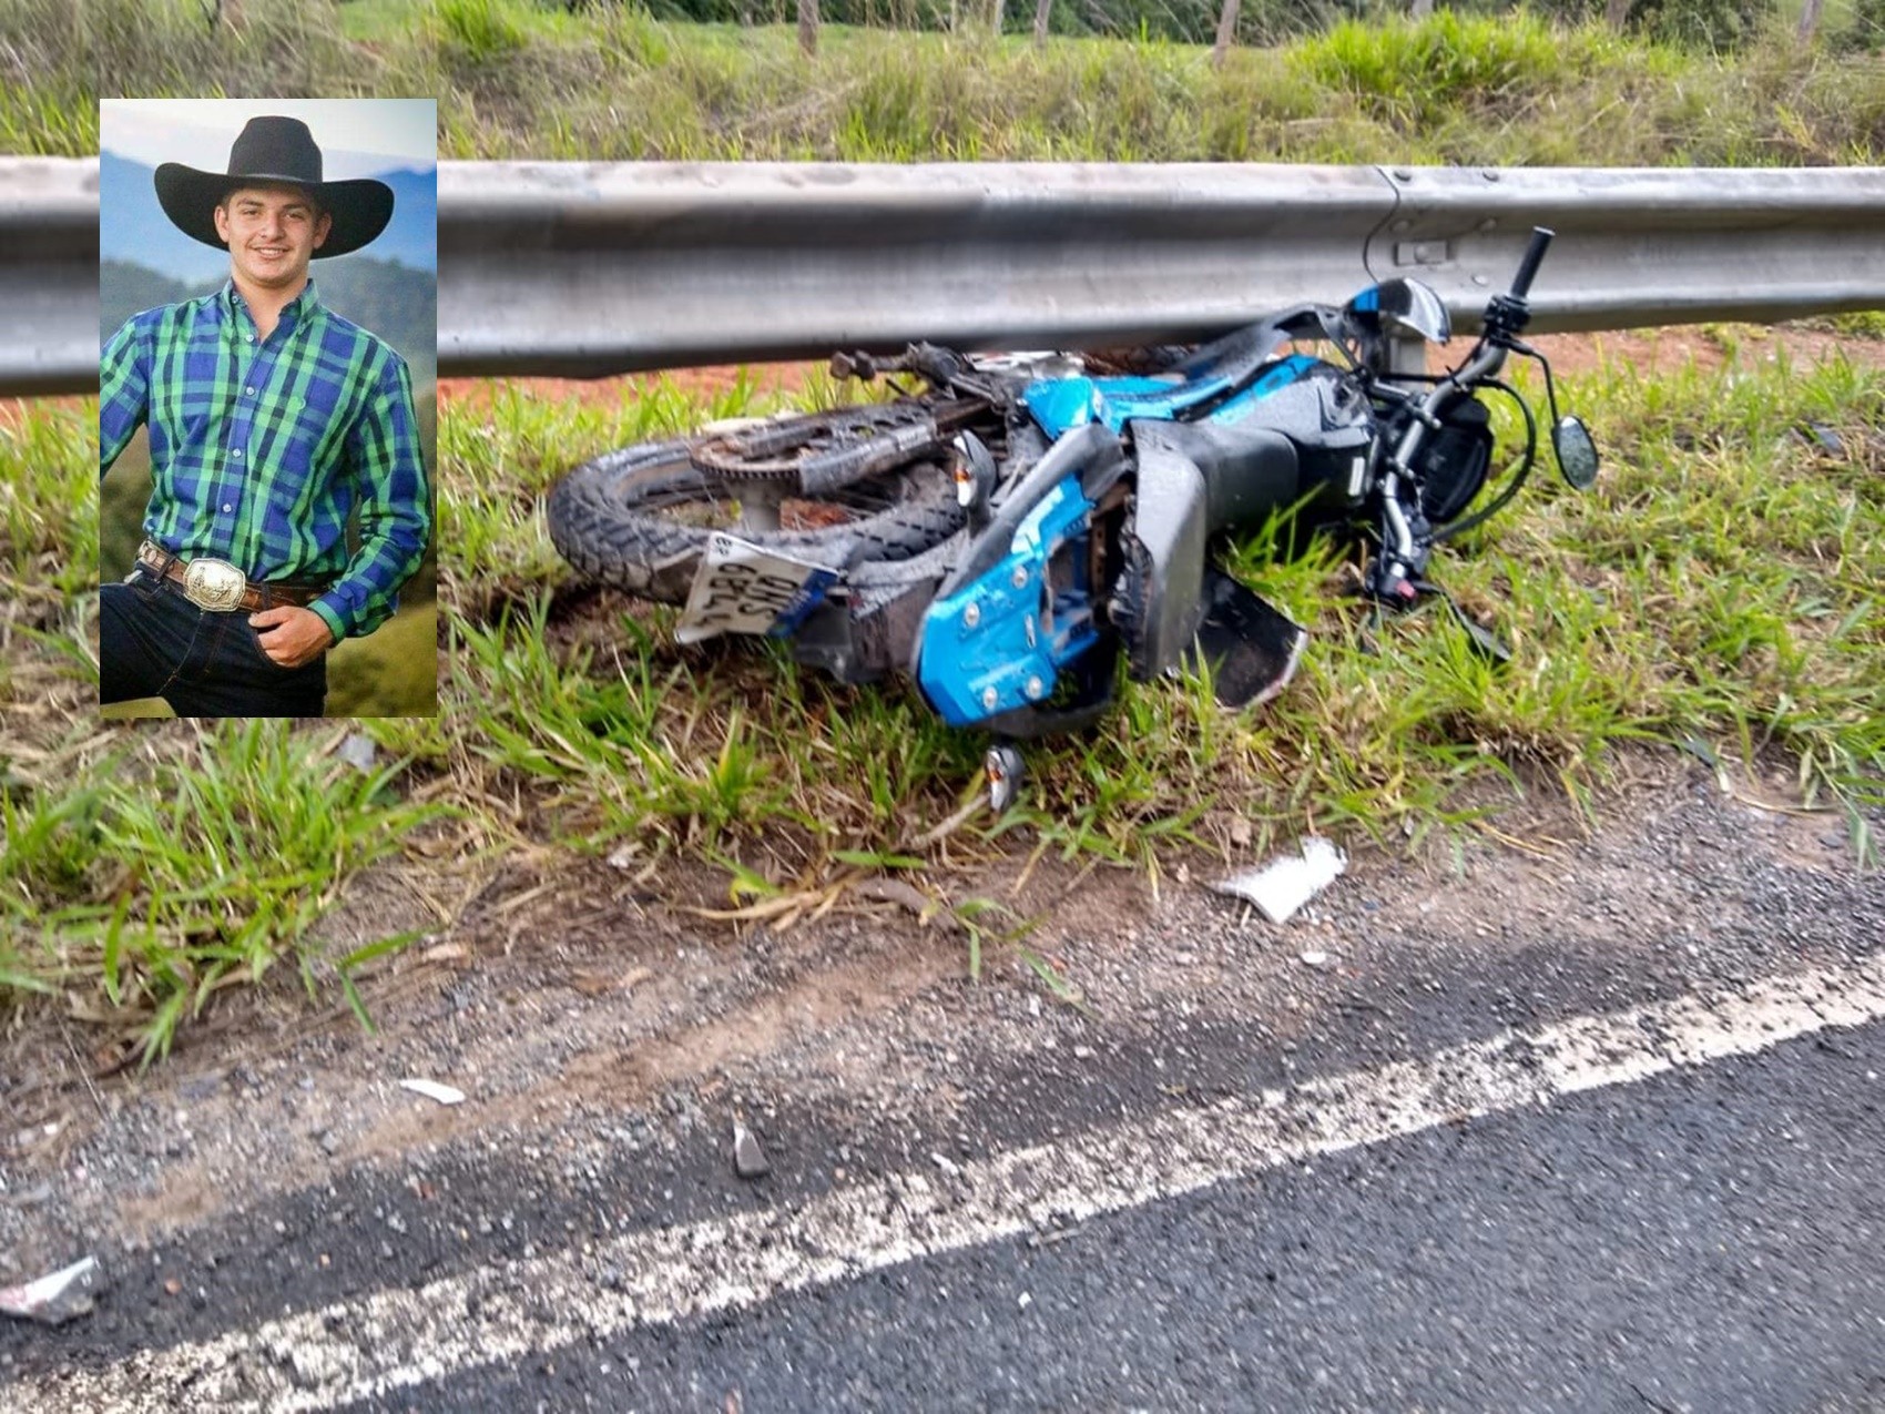
[[334, 581], [309, 607], [336, 641], [392, 615], [432, 528], [411, 375], [313, 281], [268, 339], [234, 283], [132, 315], [100, 362], [100, 477], [139, 422], [156, 483], [145, 535], [249, 579]]

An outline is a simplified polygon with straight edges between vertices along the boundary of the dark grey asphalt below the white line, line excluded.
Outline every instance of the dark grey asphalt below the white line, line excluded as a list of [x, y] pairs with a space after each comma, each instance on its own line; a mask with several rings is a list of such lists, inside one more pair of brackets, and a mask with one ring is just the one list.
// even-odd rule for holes
[[351, 1408], [1885, 1408], [1885, 1024]]

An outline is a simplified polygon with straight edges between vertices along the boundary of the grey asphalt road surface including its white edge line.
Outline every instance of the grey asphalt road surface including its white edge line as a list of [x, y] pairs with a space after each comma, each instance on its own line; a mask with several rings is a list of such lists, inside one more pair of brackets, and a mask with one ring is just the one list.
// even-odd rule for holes
[[[509, 1212], [451, 1241], [496, 1197], [469, 1169], [428, 1169], [447, 1220], [413, 1241], [385, 1188], [334, 1188], [279, 1208], [294, 1227], [222, 1231], [245, 1246], [207, 1254], [219, 1299], [198, 1288], [168, 1325], [126, 1301], [40, 1340], [13, 1327], [0, 1393], [23, 1412], [1885, 1408], [1877, 956], [912, 1158], [777, 1197], [703, 1171], [692, 1203], [656, 1175], [643, 1222], [564, 1218], [562, 1244], [573, 1208], [526, 1207], [522, 1250]], [[701, 1203], [709, 1186], [746, 1201]], [[317, 1303], [281, 1261], [311, 1242], [366, 1288]]]

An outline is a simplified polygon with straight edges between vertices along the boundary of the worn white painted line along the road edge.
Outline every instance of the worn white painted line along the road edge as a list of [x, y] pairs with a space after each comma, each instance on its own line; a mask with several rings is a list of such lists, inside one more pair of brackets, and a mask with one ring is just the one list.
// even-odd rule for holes
[[[1255, 1099], [1176, 1109], [1010, 1150], [954, 1175], [892, 1175], [797, 1208], [713, 1218], [481, 1267], [418, 1288], [141, 1352], [104, 1371], [0, 1386], [0, 1408], [322, 1410], [481, 1365], [513, 1365], [635, 1325], [662, 1325], [843, 1282], [918, 1258], [1120, 1212], [1318, 1154], [1465, 1116], [1549, 1105], [1680, 1065], [1749, 1056], [1832, 1026], [1885, 1020], [1885, 956], [1678, 997], [1310, 1080]], [[599, 1273], [622, 1273], [616, 1288]]]

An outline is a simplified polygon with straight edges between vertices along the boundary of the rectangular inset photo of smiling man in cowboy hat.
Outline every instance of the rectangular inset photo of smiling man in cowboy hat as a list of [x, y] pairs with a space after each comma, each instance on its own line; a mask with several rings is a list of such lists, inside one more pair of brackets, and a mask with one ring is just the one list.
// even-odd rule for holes
[[437, 713], [437, 106], [104, 100], [98, 698]]

